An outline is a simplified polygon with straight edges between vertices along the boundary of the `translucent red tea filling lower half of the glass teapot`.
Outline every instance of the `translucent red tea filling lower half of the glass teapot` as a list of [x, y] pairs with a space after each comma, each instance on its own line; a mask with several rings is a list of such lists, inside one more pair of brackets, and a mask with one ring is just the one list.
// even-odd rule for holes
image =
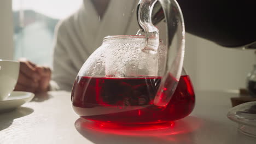
[[72, 91], [73, 110], [92, 121], [119, 124], [148, 124], [174, 121], [188, 116], [195, 94], [188, 75], [181, 76], [170, 102], [153, 104], [161, 77], [81, 77]]

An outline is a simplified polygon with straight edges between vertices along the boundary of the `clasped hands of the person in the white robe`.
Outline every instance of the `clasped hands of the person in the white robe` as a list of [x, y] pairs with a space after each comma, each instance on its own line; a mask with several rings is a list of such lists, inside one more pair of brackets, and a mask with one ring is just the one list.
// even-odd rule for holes
[[26, 59], [20, 60], [18, 82], [14, 91], [42, 93], [49, 91], [51, 69], [38, 66]]

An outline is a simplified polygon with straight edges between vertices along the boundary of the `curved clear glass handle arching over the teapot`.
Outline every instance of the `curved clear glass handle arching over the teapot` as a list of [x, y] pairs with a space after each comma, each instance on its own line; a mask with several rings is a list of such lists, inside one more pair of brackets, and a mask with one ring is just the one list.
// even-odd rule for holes
[[[139, 3], [139, 25], [146, 34], [146, 46], [144, 50], [156, 51], [159, 45], [149, 45], [148, 40], [159, 41], [158, 29], [152, 23], [152, 11], [156, 2], [159, 2], [164, 10], [167, 29], [167, 56], [165, 60], [164, 75], [158, 92], [154, 99], [154, 105], [166, 106], [177, 87], [183, 67], [185, 51], [185, 26], [181, 8], [176, 0], [141, 0]], [[140, 13], [143, 10], [143, 13]], [[154, 37], [155, 39], [150, 39]], [[177, 39], [177, 46], [173, 46], [173, 39]], [[158, 44], [158, 45], [157, 45]], [[156, 47], [156, 49], [154, 48]]]

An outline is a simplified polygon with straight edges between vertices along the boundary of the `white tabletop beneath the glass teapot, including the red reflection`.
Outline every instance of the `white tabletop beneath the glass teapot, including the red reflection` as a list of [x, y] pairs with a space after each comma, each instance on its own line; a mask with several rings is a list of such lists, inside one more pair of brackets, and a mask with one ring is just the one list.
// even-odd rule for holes
[[[0, 113], [0, 143], [256, 143], [237, 131], [226, 113], [237, 93], [196, 92], [190, 116], [147, 128], [101, 128], [79, 118], [71, 108], [71, 93], [49, 92], [44, 99]], [[140, 129], [140, 130], [138, 130]]]

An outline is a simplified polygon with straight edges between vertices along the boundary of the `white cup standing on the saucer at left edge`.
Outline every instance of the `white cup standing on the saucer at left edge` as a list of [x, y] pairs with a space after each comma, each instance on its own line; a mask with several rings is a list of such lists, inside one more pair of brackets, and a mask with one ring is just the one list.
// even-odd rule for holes
[[13, 92], [18, 81], [20, 63], [0, 59], [0, 100], [5, 100]]

